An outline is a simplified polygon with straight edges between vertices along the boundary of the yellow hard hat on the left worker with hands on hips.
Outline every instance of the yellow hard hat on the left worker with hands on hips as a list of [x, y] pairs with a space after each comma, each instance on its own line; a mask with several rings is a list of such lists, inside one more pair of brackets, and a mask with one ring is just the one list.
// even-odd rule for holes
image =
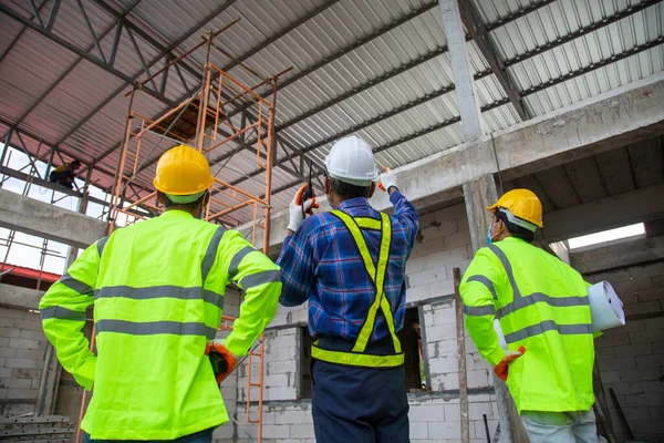
[[166, 151], [157, 163], [153, 184], [168, 195], [191, 195], [212, 186], [210, 164], [198, 151], [186, 145]]

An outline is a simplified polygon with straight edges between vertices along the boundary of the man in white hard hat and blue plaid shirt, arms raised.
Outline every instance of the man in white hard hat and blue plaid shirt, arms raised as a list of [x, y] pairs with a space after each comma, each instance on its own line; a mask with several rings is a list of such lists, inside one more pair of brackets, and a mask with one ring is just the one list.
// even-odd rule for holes
[[[280, 303], [309, 300], [312, 414], [317, 442], [408, 442], [404, 353], [406, 260], [417, 212], [393, 173], [378, 176], [371, 146], [346, 137], [325, 159], [325, 194], [334, 210], [290, 206], [289, 235], [278, 264]], [[377, 182], [377, 183], [376, 183]], [[394, 215], [371, 207], [376, 185], [390, 193]]]

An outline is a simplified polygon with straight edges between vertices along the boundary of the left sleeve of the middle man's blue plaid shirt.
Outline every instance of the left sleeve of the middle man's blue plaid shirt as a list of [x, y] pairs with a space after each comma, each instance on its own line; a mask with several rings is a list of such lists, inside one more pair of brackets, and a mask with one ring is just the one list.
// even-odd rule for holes
[[281, 267], [281, 297], [283, 306], [299, 306], [309, 299], [314, 282], [313, 247], [310, 241], [310, 219], [294, 235], [283, 239], [283, 248], [277, 260]]

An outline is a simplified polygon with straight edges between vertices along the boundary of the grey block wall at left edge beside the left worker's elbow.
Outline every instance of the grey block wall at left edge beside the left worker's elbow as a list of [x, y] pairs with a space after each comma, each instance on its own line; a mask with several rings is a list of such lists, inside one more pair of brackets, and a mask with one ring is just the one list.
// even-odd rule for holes
[[46, 343], [38, 313], [0, 308], [0, 416], [34, 412]]

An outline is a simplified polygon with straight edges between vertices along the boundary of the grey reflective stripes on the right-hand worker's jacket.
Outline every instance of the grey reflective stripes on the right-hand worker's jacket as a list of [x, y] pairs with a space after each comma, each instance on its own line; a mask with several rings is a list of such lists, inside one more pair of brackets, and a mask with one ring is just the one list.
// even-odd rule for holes
[[[519, 287], [517, 286], [517, 281], [515, 279], [515, 274], [512, 271], [511, 264], [509, 262], [509, 259], [505, 255], [505, 251], [496, 245], [489, 245], [488, 247], [491, 250], [491, 253], [494, 253], [496, 255], [496, 257], [498, 257], [498, 259], [502, 264], [502, 267], [505, 268], [505, 272], [507, 274], [507, 278], [509, 280], [509, 284], [512, 288], [512, 293], [513, 293], [512, 301], [507, 303], [502, 308], [498, 309], [498, 311], [496, 311], [496, 316], [499, 319], [504, 318], [510, 313], [513, 313], [520, 309], [528, 308], [538, 302], [544, 302], [554, 308], [588, 306], [588, 296], [587, 295], [568, 296], [568, 297], [551, 297], [551, 296], [548, 296], [542, 292], [533, 292], [528, 296], [521, 296], [521, 292], [519, 291]], [[492, 291], [494, 287], [492, 287], [492, 284], [490, 282], [490, 280], [486, 279], [483, 276], [473, 276], [473, 277], [468, 278], [468, 281], [470, 281], [471, 278], [475, 281], [483, 282], [485, 286], [487, 286], [487, 288], [489, 288], [489, 290], [491, 292], [494, 292]], [[473, 315], [474, 316], [486, 316], [486, 315], [494, 313], [492, 307], [477, 307], [477, 308], [464, 307], [464, 308], [465, 308], [464, 311], [471, 316]], [[516, 341], [525, 340], [529, 337], [539, 336], [547, 331], [558, 331], [558, 333], [561, 336], [585, 334], [585, 333], [592, 333], [592, 324], [591, 323], [558, 324], [553, 320], [542, 320], [539, 323], [530, 324], [528, 327], [518, 329], [513, 332], [506, 333], [505, 341], [507, 343], [513, 343]]]

